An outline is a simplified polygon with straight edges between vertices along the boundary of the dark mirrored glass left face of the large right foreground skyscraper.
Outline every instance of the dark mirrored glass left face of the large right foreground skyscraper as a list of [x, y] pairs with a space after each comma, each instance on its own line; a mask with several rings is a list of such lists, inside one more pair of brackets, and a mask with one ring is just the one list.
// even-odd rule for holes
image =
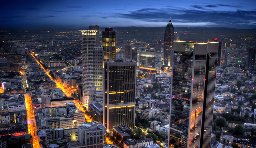
[[193, 53], [174, 52], [169, 147], [187, 147]]

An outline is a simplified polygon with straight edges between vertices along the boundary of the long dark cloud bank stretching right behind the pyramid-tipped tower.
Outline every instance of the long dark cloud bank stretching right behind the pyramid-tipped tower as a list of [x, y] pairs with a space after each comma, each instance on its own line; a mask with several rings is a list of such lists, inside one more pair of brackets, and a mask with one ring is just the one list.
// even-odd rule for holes
[[[207, 5], [208, 7], [213, 7]], [[206, 25], [239, 26], [254, 25], [256, 27], [256, 11], [234, 10], [234, 11], [213, 11], [213, 10], [191, 10], [175, 8], [143, 8], [127, 13], [117, 13], [118, 17], [140, 20], [145, 22], [168, 22], [171, 17], [173, 24], [200, 23]], [[182, 21], [181, 21], [182, 20]], [[249, 20], [249, 21], [248, 21]], [[245, 26], [243, 26], [245, 27]]]

